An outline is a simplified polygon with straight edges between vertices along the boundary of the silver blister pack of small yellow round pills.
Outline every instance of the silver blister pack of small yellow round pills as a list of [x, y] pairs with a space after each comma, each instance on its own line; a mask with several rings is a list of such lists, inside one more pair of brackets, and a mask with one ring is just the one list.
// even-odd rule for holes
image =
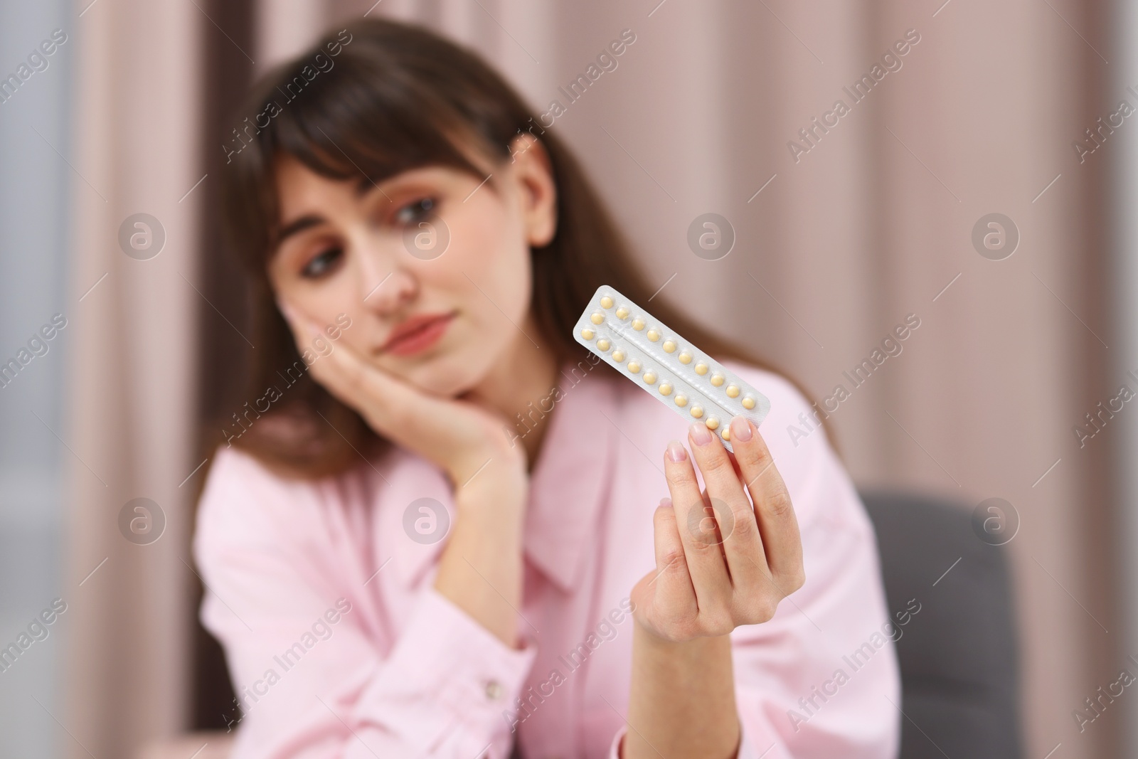
[[574, 337], [687, 422], [702, 421], [728, 451], [735, 414], [758, 427], [770, 410], [765, 395], [607, 284], [593, 294]]

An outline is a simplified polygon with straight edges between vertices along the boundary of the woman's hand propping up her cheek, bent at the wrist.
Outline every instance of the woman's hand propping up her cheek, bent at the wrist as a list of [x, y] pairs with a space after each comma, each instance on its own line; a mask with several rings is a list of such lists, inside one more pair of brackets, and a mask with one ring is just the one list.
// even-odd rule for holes
[[[311, 347], [320, 328], [296, 306], [279, 302], [297, 348]], [[526, 475], [526, 452], [502, 432], [505, 420], [467, 401], [429, 395], [369, 363], [346, 344], [308, 371], [356, 410], [377, 434], [434, 462], [461, 488], [490, 461], [497, 473]]]

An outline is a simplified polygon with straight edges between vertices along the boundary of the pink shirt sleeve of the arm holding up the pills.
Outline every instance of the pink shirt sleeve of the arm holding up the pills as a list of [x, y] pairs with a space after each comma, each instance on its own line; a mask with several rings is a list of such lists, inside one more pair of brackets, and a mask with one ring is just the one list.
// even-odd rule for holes
[[[803, 586], [770, 620], [731, 635], [736, 759], [894, 759], [901, 688], [893, 642], [921, 600], [890, 616], [865, 506], [825, 432], [801, 421], [813, 407], [782, 378], [736, 371], [770, 398], [760, 432], [794, 504], [806, 569]], [[626, 731], [613, 736], [610, 759], [620, 759]]]

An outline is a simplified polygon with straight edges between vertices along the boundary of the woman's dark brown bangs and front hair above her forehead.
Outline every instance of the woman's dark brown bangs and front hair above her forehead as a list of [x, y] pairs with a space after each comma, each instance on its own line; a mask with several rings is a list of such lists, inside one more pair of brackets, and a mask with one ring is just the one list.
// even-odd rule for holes
[[414, 41], [401, 42], [402, 50], [356, 35], [338, 57], [316, 53], [323, 67], [313, 58], [286, 64], [247, 100], [244, 113], [255, 115], [245, 118], [249, 141], [240, 141], [228, 166], [234, 175], [225, 182], [224, 212], [231, 239], [253, 270], [264, 271], [280, 231], [275, 170], [282, 156], [321, 176], [363, 185], [423, 166], [481, 180], [486, 172], [470, 159], [471, 149], [510, 156], [518, 114], [488, 116], [492, 109], [479, 108], [469, 91], [485, 83], [455, 79], [453, 68], [443, 76], [429, 50], [419, 47], [409, 56]]

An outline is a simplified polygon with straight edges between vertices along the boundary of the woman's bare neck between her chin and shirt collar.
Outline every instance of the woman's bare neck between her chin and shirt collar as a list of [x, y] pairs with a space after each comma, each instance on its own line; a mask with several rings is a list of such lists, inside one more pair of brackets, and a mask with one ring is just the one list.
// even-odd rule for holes
[[526, 448], [533, 469], [552, 420], [550, 396], [558, 381], [559, 364], [550, 346], [537, 347], [530, 341], [529, 338], [544, 341], [531, 314], [526, 316], [521, 329], [525, 335], [516, 331], [503, 360], [495, 362], [467, 397], [505, 416], [509, 426], [505, 434], [513, 445]]

